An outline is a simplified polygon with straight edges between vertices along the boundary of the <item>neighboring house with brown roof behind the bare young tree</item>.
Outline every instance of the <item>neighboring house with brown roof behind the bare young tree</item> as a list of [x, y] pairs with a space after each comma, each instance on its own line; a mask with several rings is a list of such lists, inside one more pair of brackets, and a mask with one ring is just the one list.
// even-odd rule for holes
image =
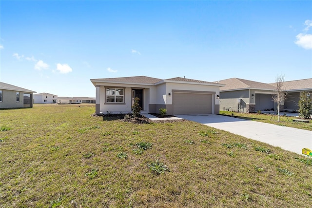
[[[220, 87], [220, 109], [236, 112], [275, 111], [277, 104], [273, 101], [276, 83], [259, 83], [250, 80], [231, 78], [216, 83], [225, 84]], [[280, 110], [298, 110], [300, 93], [312, 92], [312, 79], [284, 82], [287, 91], [284, 104]], [[311, 93], [312, 94], [312, 93]]]

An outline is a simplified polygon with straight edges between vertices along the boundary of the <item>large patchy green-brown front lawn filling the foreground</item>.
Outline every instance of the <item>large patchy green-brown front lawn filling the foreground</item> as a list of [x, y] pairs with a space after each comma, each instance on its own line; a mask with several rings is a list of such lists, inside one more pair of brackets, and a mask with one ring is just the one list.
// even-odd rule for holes
[[311, 206], [312, 163], [301, 155], [194, 122], [94, 112], [0, 111], [1, 208]]

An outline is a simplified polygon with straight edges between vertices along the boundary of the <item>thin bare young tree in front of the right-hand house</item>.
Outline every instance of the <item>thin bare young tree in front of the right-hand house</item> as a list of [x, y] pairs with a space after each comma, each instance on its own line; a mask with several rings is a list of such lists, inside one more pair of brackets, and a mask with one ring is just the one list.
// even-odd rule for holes
[[286, 99], [286, 90], [284, 87], [284, 77], [285, 75], [278, 75], [275, 78], [275, 90], [274, 94], [272, 96], [273, 101], [277, 104], [277, 117], [278, 117], [278, 122], [279, 122], [279, 109], [280, 105], [284, 103], [284, 100]]

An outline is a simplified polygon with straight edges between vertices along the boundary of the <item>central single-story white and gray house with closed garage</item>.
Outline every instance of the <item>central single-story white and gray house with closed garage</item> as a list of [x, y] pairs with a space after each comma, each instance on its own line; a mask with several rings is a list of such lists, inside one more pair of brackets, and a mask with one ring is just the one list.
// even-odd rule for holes
[[185, 78], [167, 80], [152, 77], [91, 79], [96, 87], [96, 114], [129, 113], [138, 97], [142, 111], [167, 114], [219, 113], [220, 83]]

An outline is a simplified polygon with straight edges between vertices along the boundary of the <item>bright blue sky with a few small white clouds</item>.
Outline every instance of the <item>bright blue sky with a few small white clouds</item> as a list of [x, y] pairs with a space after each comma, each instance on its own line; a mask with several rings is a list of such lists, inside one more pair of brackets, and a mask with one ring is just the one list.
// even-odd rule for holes
[[312, 78], [312, 1], [3, 1], [0, 81], [95, 97], [90, 79]]

